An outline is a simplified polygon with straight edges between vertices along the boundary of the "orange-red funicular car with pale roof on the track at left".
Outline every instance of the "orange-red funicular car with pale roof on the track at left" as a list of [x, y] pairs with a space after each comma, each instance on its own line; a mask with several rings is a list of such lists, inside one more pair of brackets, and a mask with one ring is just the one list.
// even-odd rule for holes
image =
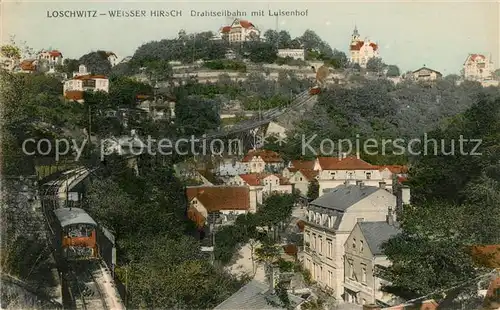
[[80, 208], [59, 208], [54, 216], [54, 245], [64, 260], [93, 260], [99, 257], [97, 223]]

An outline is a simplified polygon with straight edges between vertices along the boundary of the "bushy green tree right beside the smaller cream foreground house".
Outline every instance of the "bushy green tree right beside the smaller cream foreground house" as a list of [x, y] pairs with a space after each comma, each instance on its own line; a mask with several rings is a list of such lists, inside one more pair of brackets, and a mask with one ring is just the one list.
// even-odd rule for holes
[[392, 283], [384, 290], [415, 298], [476, 277], [480, 270], [464, 240], [465, 210], [447, 203], [406, 207], [398, 218], [402, 233], [384, 245], [384, 253], [393, 262], [379, 271]]

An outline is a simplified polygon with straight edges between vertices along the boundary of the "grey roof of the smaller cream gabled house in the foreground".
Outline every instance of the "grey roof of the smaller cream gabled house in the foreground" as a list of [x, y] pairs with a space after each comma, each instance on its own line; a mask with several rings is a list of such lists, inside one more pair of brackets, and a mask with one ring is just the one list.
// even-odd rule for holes
[[401, 230], [387, 222], [357, 223], [373, 255], [383, 255], [382, 244], [396, 236]]

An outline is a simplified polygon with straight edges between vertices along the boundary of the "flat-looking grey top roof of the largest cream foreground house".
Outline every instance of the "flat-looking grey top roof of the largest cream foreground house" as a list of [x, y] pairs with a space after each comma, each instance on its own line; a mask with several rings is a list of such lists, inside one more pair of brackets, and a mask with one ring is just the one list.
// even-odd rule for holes
[[311, 205], [344, 212], [378, 190], [383, 191], [375, 186], [340, 185], [313, 200]]

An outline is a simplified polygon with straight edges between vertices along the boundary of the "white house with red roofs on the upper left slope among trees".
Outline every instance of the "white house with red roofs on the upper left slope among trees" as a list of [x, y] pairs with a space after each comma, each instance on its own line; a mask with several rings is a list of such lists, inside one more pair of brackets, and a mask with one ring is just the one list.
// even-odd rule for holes
[[92, 75], [87, 72], [84, 65], [80, 65], [78, 74], [73, 73], [73, 78], [64, 82], [63, 95], [68, 100], [83, 101], [86, 91], [109, 92], [109, 80], [104, 75]]

